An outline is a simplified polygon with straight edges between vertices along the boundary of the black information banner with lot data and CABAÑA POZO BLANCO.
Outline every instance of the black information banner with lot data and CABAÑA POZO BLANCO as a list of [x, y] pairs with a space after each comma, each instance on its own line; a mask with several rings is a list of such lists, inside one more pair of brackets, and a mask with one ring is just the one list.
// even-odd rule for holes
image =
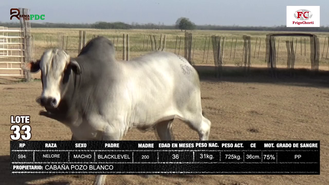
[[11, 174], [320, 174], [320, 141], [11, 141]]

